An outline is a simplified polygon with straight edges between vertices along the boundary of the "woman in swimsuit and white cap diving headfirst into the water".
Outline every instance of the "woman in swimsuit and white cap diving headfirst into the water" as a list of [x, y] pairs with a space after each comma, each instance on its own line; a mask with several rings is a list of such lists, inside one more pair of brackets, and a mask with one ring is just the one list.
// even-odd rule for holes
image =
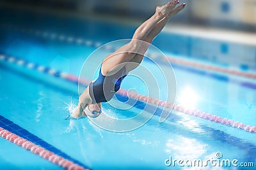
[[177, 4], [179, 0], [172, 0], [163, 6], [157, 6], [154, 15], [136, 29], [129, 43], [105, 57], [100, 66], [99, 77], [86, 87], [79, 97], [76, 111], [70, 117], [100, 115], [101, 103], [108, 102], [115, 95], [125, 76], [140, 65], [143, 54], [163, 30], [164, 25], [186, 6], [185, 3], [179, 6]]

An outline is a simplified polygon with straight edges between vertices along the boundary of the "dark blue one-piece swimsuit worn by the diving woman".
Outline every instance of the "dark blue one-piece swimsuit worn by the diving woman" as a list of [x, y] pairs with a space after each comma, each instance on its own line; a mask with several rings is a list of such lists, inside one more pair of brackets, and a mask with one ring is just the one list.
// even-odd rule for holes
[[92, 98], [92, 103], [107, 102], [120, 89], [120, 85], [127, 74], [125, 67], [111, 76], [103, 76], [101, 67], [99, 77], [89, 85], [89, 94]]

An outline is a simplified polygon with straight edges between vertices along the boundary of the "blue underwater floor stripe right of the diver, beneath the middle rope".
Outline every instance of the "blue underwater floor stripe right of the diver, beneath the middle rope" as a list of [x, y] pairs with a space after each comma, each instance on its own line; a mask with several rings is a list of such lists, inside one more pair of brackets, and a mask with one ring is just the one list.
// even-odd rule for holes
[[[128, 97], [121, 96], [120, 94], [116, 94], [116, 98], [122, 102], [127, 102], [129, 99]], [[128, 102], [128, 104], [129, 104], [129, 102]], [[137, 101], [136, 104], [134, 104], [134, 107], [138, 108], [140, 110], [145, 110], [145, 106], [146, 106], [146, 103], [143, 101]], [[147, 106], [147, 110], [145, 110], [145, 111], [147, 111], [148, 113], [152, 113], [152, 111], [154, 111], [155, 109], [156, 109], [156, 106]], [[156, 111], [152, 114], [156, 115], [157, 117], [160, 117], [161, 114], [164, 112], [166, 114], [168, 113], [166, 110], [163, 110], [163, 108], [157, 107]], [[173, 122], [175, 124], [180, 124], [180, 125], [182, 125], [182, 122], [184, 122], [184, 123], [187, 122], [187, 121], [184, 121], [181, 117], [179, 117], [179, 115], [174, 115], [174, 114], [170, 114], [170, 116], [166, 120], [168, 120], [169, 122]], [[188, 122], [188, 124], [189, 124], [189, 122]], [[202, 129], [204, 132], [189, 131], [190, 132], [189, 134], [181, 134], [181, 135], [186, 136], [186, 135], [190, 135], [190, 134], [195, 134], [195, 136], [198, 136], [198, 138], [205, 138], [205, 136], [209, 136], [210, 138], [212, 138], [214, 140], [218, 140], [223, 143], [228, 143], [231, 146], [235, 146], [236, 148], [244, 150], [246, 152], [246, 156], [244, 157], [244, 159], [246, 159], [246, 161], [255, 162], [255, 160], [256, 160], [256, 145], [255, 144], [246, 142], [244, 139], [237, 138], [236, 136], [232, 136], [230, 134], [227, 134], [226, 132], [209, 127], [208, 125], [198, 124], [196, 126], [196, 129], [197, 128]], [[232, 128], [232, 127], [230, 127], [230, 128]], [[177, 129], [177, 128], [168, 129], [168, 131], [172, 132], [172, 133], [177, 133], [179, 135], [180, 135], [180, 133], [182, 133], [180, 131], [180, 129]], [[239, 130], [237, 130], [237, 131], [239, 131]], [[254, 135], [254, 134], [252, 134], [252, 135]], [[239, 160], [239, 161], [241, 161], [241, 160]]]

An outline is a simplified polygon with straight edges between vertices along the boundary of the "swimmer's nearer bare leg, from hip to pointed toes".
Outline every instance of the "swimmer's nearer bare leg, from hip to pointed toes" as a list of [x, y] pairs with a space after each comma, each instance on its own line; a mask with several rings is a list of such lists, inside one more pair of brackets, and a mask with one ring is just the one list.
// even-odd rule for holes
[[[178, 1], [170, 1], [166, 3], [164, 6], [157, 6], [156, 13], [152, 15], [148, 20], [143, 22], [134, 32], [132, 39], [129, 43], [122, 46], [116, 52], [109, 54], [104, 61], [102, 62], [102, 74], [111, 74], [116, 73], [119, 69], [124, 67], [124, 62], [129, 62], [132, 58], [138, 53], [138, 50], [141, 48], [141, 44], [143, 40], [150, 34], [152, 29], [156, 26], [156, 24], [161, 21], [170, 11], [173, 10], [175, 2], [177, 4]], [[143, 47], [148, 48], [148, 46]], [[119, 66], [119, 67], [118, 67]]]

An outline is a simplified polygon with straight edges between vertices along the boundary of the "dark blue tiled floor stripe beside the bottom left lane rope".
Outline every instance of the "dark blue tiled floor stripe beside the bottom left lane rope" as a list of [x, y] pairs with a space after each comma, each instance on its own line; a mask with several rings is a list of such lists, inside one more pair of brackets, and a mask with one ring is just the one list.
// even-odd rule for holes
[[89, 167], [85, 166], [83, 163], [79, 162], [76, 159], [73, 159], [72, 157], [68, 156], [66, 153], [62, 152], [61, 150], [58, 150], [58, 148], [55, 148], [51, 144], [45, 142], [43, 139], [38, 138], [34, 134], [31, 134], [31, 132], [27, 131], [26, 129], [23, 129], [19, 125], [13, 123], [11, 120], [8, 120], [7, 118], [1, 115], [0, 115], [0, 127], [12, 132], [13, 134], [17, 134], [21, 138], [27, 139], [28, 141], [31, 141], [36, 145], [42, 146], [43, 148], [55, 153], [56, 155], [60, 155], [64, 159], [70, 160], [75, 164], [84, 167], [85, 169], [89, 169]]

